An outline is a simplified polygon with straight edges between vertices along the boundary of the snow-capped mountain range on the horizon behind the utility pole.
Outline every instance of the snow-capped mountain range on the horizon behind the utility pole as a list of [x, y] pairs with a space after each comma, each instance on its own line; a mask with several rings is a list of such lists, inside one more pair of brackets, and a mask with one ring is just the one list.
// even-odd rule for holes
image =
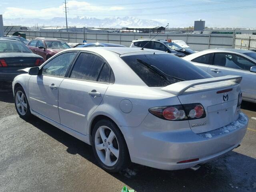
[[[22, 25], [22, 26], [66, 26], [66, 20], [62, 17], [54, 17], [51, 19], [40, 18], [14, 18], [4, 19], [4, 25]], [[137, 26], [164, 26], [164, 24], [154, 20], [144, 20], [135, 17], [110, 17], [104, 19], [89, 18], [89, 17], [75, 17], [68, 18], [68, 26], [77, 27], [137, 27]]]

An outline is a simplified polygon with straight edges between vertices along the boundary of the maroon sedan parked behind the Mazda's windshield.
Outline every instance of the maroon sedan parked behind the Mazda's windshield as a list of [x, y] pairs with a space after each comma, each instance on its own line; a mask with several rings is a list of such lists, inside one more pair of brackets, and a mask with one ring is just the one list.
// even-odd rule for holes
[[48, 60], [56, 53], [71, 48], [66, 42], [53, 38], [36, 38], [28, 43], [28, 48]]

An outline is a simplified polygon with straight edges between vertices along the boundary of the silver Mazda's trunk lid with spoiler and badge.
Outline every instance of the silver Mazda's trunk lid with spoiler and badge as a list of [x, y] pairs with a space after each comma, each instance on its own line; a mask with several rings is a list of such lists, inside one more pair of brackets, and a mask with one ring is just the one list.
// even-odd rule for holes
[[[230, 79], [231, 78], [231, 79]], [[221, 78], [209, 78], [204, 80], [184, 81], [172, 84], [177, 87], [180, 84], [181, 92], [176, 92], [181, 104], [200, 103], [206, 112], [205, 118], [188, 120], [190, 128], [195, 133], [208, 132], [226, 126], [237, 120], [238, 95], [240, 93], [240, 76], [225, 76]], [[213, 80], [213, 82], [212, 82]], [[195, 82], [198, 83], [195, 84]], [[192, 83], [190, 83], [192, 82]], [[202, 84], [201, 84], [202, 83]], [[186, 88], [182, 87], [186, 84]], [[172, 93], [168, 86], [162, 88]], [[179, 87], [179, 86], [178, 86]], [[169, 91], [168, 91], [169, 90]], [[176, 89], [176, 91], [178, 91]]]

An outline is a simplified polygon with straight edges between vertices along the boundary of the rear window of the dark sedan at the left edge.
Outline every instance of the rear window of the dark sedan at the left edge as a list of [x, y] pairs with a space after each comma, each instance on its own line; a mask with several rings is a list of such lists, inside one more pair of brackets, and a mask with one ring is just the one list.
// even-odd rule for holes
[[0, 41], [0, 52], [32, 53], [22, 42], [15, 41]]

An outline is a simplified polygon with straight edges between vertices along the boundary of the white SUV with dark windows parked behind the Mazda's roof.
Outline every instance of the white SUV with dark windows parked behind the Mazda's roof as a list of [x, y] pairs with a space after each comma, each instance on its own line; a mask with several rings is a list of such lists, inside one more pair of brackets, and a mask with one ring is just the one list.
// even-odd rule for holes
[[[147, 44], [148, 43], [148, 44]], [[145, 46], [146, 45], [146, 46]], [[182, 48], [174, 42], [168, 42], [160, 39], [137, 39], [133, 40], [130, 47], [143, 47], [147, 49], [160, 50], [168, 53], [175, 54], [178, 57], [184, 57], [186, 55], [194, 53], [193, 50]]]

